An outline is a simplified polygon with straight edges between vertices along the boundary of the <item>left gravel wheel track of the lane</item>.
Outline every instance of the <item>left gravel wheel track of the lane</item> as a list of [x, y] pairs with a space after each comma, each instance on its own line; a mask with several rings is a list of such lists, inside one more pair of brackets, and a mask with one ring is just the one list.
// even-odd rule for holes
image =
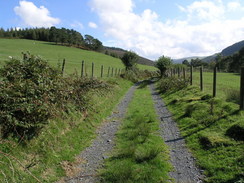
[[[97, 170], [102, 167], [104, 159], [114, 147], [114, 137], [118, 126], [125, 116], [127, 106], [132, 99], [136, 85], [132, 86], [122, 101], [109, 116], [106, 122], [97, 130], [97, 137], [92, 144], [79, 155], [84, 163], [79, 165], [81, 172], [76, 177], [67, 178], [67, 183], [95, 183], [99, 182]], [[112, 100], [112, 99], [111, 99]]]

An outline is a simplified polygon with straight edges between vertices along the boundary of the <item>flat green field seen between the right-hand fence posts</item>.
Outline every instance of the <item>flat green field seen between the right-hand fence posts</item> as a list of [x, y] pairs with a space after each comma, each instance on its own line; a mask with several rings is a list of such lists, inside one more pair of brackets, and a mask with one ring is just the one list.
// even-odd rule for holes
[[[200, 72], [193, 72], [193, 85], [200, 88]], [[213, 94], [213, 73], [203, 72], [203, 90]], [[216, 95], [224, 100], [232, 91], [240, 92], [240, 75], [235, 73], [217, 73]]]

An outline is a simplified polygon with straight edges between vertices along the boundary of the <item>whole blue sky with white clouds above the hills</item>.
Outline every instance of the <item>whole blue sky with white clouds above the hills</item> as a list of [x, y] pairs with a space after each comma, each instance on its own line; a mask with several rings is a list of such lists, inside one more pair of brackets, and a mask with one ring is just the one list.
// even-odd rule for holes
[[243, 0], [0, 0], [0, 27], [65, 27], [150, 58], [244, 40]]

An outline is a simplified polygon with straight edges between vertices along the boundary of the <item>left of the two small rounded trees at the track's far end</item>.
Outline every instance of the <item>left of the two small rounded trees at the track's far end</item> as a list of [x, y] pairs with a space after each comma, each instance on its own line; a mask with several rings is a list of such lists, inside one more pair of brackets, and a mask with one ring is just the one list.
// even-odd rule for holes
[[123, 64], [125, 65], [125, 69], [130, 70], [135, 66], [138, 58], [139, 58], [139, 56], [135, 52], [127, 51], [124, 53], [121, 60], [122, 60]]

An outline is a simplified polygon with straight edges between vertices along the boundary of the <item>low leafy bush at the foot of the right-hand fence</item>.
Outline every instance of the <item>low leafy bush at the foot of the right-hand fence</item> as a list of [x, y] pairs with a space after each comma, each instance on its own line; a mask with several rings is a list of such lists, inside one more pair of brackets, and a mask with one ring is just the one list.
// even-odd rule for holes
[[161, 93], [167, 91], [178, 91], [188, 86], [188, 81], [182, 78], [168, 77], [162, 78], [158, 82], [158, 89]]

